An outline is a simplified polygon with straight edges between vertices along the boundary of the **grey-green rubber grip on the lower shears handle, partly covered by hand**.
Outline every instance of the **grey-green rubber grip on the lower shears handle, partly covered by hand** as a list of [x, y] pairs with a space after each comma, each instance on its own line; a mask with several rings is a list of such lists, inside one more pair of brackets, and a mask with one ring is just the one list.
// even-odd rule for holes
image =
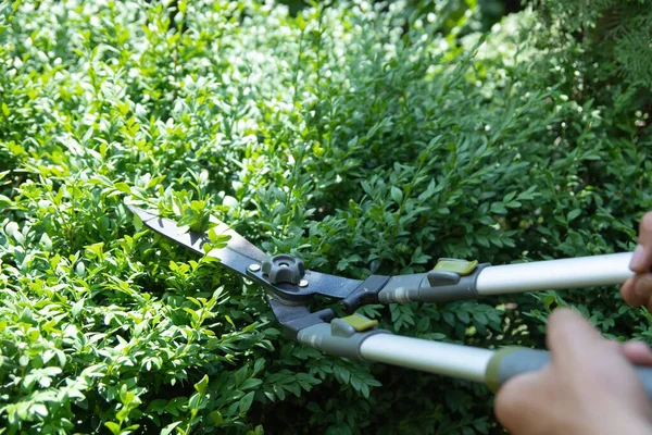
[[[492, 391], [519, 374], [543, 369], [550, 362], [550, 353], [544, 350], [522, 347], [505, 347], [498, 350], [485, 373], [485, 382]], [[652, 368], [636, 366], [636, 372], [648, 397], [652, 400]]]

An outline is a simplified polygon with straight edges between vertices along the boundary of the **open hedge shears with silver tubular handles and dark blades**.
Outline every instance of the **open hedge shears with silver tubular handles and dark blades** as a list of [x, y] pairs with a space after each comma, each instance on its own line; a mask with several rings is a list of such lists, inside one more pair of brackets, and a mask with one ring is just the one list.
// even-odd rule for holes
[[[208, 235], [128, 207], [155, 233], [196, 253], [217, 258], [222, 266], [261, 285], [287, 336], [302, 345], [333, 356], [480, 382], [492, 391], [513, 376], [546, 366], [549, 353], [518, 347], [489, 350], [399, 336], [354, 311], [369, 303], [441, 303], [490, 295], [615, 285], [634, 275], [628, 268], [631, 253], [623, 252], [506, 265], [444, 258], [426, 273], [371, 275], [360, 281], [305, 270], [301, 259], [289, 254], [267, 256], [222, 222], [212, 231], [226, 236], [226, 245], [205, 253]], [[315, 296], [340, 301], [349, 315], [337, 318], [331, 309], [310, 312], [306, 304]], [[652, 398], [652, 369], [636, 370]]]

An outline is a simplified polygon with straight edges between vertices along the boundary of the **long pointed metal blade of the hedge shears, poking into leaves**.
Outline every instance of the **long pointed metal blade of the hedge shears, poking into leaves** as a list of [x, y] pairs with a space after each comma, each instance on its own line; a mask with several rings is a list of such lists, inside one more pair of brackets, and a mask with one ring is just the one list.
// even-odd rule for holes
[[247, 268], [250, 264], [254, 262], [260, 263], [267, 259], [265, 252], [261, 251], [255, 245], [251, 244], [223, 222], [218, 221], [217, 226], [213, 229], [217, 235], [229, 236], [230, 238], [226, 241], [225, 247], [213, 248], [205, 253], [203, 246], [211, 241], [206, 235], [189, 232], [187, 226], [179, 226], [170, 219], [158, 216], [138, 207], [127, 207], [150, 229], [197, 253], [217, 258], [224, 266], [241, 275], [247, 275]]

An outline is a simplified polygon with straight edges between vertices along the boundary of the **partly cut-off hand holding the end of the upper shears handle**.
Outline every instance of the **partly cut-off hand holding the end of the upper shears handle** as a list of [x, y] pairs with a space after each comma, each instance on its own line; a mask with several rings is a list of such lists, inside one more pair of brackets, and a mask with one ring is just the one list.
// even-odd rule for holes
[[652, 212], [648, 212], [641, 220], [639, 227], [639, 243], [634, 251], [629, 269], [636, 272], [620, 287], [620, 295], [632, 307], [648, 307], [652, 311]]

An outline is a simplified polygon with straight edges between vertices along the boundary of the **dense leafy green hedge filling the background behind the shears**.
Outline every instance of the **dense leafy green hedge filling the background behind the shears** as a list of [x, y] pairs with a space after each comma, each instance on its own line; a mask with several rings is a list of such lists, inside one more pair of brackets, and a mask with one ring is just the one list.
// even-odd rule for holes
[[[123, 201], [359, 278], [630, 250], [652, 4], [516, 9], [0, 2], [0, 433], [500, 432], [482, 386], [286, 340], [260, 288]], [[566, 304], [652, 338], [615, 288], [362, 311], [541, 347]]]

